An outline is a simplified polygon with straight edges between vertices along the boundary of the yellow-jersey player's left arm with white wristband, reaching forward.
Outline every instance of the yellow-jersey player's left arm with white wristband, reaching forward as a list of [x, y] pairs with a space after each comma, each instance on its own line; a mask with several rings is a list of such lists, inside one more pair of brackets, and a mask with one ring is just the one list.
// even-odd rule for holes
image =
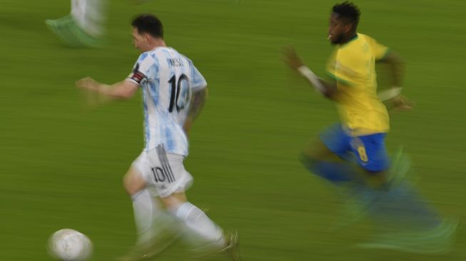
[[310, 71], [310, 68], [305, 66], [293, 47], [288, 46], [285, 48], [285, 63], [298, 71], [323, 96], [333, 100], [338, 96], [336, 82], [324, 81], [322, 78], [315, 76], [313, 71]]

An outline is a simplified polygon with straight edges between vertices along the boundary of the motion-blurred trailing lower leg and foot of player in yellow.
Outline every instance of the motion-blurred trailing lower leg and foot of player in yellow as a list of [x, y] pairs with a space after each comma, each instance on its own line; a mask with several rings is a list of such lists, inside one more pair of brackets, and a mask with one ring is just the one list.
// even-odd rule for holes
[[388, 188], [369, 212], [378, 223], [363, 248], [391, 249], [422, 254], [443, 254], [452, 249], [459, 221], [442, 218], [420, 195], [410, 173], [410, 160], [399, 150], [386, 176]]

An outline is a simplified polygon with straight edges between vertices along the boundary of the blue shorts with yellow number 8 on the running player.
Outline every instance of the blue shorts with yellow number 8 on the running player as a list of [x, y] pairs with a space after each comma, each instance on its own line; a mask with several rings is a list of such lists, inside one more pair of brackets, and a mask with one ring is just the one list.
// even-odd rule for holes
[[340, 123], [336, 123], [320, 133], [320, 139], [340, 158], [348, 160], [348, 154], [353, 154], [365, 170], [378, 172], [390, 168], [390, 158], [384, 142], [385, 135], [385, 133], [375, 133], [353, 137], [343, 131]]

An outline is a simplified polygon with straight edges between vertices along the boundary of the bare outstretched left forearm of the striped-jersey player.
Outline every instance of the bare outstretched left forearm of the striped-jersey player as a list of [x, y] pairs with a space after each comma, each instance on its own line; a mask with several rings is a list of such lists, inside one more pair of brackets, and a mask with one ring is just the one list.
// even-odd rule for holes
[[98, 83], [91, 77], [86, 77], [76, 81], [76, 86], [94, 91], [111, 99], [128, 99], [133, 97], [134, 93], [138, 90], [138, 83], [129, 79], [108, 85]]

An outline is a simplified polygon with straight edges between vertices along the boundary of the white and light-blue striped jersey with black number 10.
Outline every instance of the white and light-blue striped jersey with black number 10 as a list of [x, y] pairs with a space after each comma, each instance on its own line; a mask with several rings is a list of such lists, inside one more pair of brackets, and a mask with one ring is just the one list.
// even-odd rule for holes
[[142, 89], [145, 149], [163, 145], [167, 153], [188, 155], [183, 131], [193, 92], [207, 86], [193, 62], [173, 48], [141, 53], [128, 79]]

